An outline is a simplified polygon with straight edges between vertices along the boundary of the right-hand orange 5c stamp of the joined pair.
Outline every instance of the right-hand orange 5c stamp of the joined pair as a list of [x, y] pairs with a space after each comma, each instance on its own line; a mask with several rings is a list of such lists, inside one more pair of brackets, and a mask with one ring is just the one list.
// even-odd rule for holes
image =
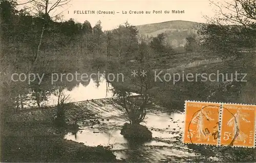
[[222, 104], [221, 145], [254, 147], [254, 105]]

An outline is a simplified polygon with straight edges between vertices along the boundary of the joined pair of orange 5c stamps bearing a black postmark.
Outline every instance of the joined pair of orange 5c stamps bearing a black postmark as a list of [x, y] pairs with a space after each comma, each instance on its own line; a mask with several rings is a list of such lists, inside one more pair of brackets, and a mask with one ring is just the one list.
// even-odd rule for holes
[[185, 101], [183, 143], [256, 147], [256, 106]]

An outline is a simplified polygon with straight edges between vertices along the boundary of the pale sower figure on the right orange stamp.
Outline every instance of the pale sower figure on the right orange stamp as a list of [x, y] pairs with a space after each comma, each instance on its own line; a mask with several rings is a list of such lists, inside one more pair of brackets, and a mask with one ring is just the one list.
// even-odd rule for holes
[[244, 114], [241, 112], [240, 108], [238, 109], [237, 113], [234, 114], [234, 116], [227, 122], [227, 125], [229, 127], [233, 126], [233, 137], [236, 136], [237, 132], [238, 135], [236, 137], [236, 143], [237, 141], [243, 141], [244, 143], [246, 143], [246, 137], [248, 137], [248, 135], [246, 135], [244, 132], [241, 131], [241, 122], [245, 121], [247, 123], [249, 123], [250, 121], [248, 121], [245, 117], [247, 117], [247, 114]]

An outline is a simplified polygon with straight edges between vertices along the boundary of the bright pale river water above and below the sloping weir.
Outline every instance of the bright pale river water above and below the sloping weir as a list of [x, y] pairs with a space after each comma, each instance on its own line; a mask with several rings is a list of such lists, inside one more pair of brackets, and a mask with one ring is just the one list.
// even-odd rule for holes
[[[90, 82], [87, 87], [79, 85], [69, 92], [69, 95], [74, 99], [73, 101], [113, 96], [113, 94], [106, 96], [106, 83], [104, 82], [98, 88], [93, 82]], [[92, 92], [92, 94], [83, 95], [83, 92]], [[68, 133], [65, 136], [66, 139], [87, 146], [110, 146], [117, 158], [132, 162], [190, 161], [195, 160], [195, 157], [202, 157], [182, 143], [184, 113], [168, 114], [160, 111], [147, 113], [141, 124], [151, 130], [153, 139], [151, 142], [134, 144], [127, 142], [120, 134], [122, 125], [128, 122], [124, 111], [117, 108], [108, 108], [100, 112], [96, 109], [90, 111], [98, 113], [98, 120], [101, 123], [84, 126], [84, 122], [79, 122], [81, 130], [76, 134]], [[95, 121], [95, 119], [84, 121]]]

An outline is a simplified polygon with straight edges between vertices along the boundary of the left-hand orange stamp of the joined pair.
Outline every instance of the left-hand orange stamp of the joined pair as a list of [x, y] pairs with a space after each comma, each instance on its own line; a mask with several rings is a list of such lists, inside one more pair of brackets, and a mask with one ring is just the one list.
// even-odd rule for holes
[[183, 143], [218, 145], [219, 103], [185, 101]]

